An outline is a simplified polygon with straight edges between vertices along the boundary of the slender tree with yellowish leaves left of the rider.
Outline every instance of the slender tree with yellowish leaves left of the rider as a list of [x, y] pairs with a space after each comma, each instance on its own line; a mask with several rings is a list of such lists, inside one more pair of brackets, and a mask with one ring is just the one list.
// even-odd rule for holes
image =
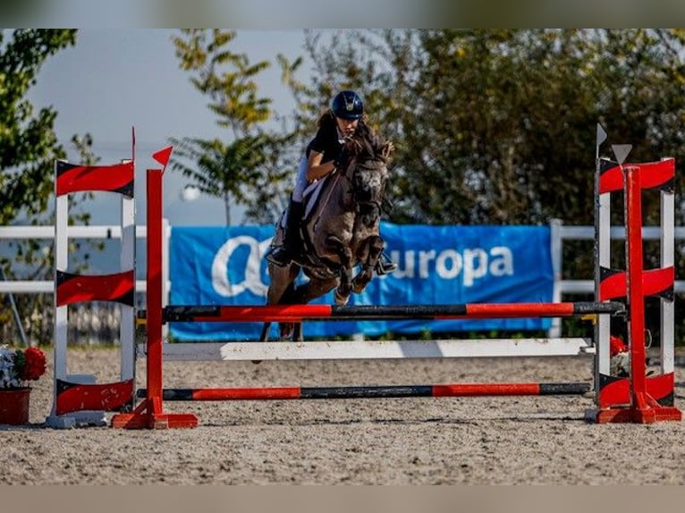
[[232, 201], [250, 205], [257, 221], [272, 222], [283, 207], [278, 199], [292, 165], [292, 136], [263, 128], [274, 114], [271, 99], [258, 97], [254, 79], [270, 63], [252, 64], [247, 55], [231, 52], [235, 35], [234, 30], [184, 29], [182, 37], [173, 38], [182, 70], [193, 74], [190, 81], [209, 97], [217, 125], [231, 131], [231, 140], [172, 139], [170, 166], [200, 191], [224, 200], [226, 224], [231, 224]]

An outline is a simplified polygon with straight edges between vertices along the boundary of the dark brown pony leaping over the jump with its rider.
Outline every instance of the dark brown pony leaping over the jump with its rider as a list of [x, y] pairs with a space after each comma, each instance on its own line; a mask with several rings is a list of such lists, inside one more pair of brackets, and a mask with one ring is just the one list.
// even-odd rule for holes
[[[317, 198], [308, 199], [316, 205], [305, 204], [302, 255], [285, 267], [268, 265], [268, 305], [306, 304], [334, 289], [335, 304], [344, 305], [352, 292], [366, 288], [384, 248], [379, 227], [392, 153], [393, 144], [376, 136], [345, 144], [340, 169], [326, 177]], [[278, 223], [274, 244], [282, 240], [283, 223]], [[300, 271], [309, 281], [296, 286]], [[261, 341], [268, 340], [270, 325], [264, 324]], [[279, 327], [282, 340], [302, 340], [300, 323]]]

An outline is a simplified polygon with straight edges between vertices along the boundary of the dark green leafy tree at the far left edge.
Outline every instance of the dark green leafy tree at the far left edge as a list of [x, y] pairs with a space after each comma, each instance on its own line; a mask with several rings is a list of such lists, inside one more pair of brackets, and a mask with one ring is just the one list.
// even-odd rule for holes
[[[0, 224], [16, 222], [54, 223], [48, 201], [53, 198], [55, 160], [66, 151], [57, 141], [54, 123], [57, 113], [45, 107], [35, 113], [26, 96], [36, 83], [38, 72], [51, 55], [76, 42], [74, 29], [20, 29], [0, 31]], [[9, 38], [9, 36], [12, 36]], [[6, 38], [6, 40], [5, 40]], [[82, 164], [95, 164], [92, 138], [74, 135], [72, 145]], [[89, 198], [89, 193], [74, 195], [72, 206]], [[89, 223], [87, 212], [70, 213], [74, 223]], [[84, 260], [76, 266], [83, 270], [89, 261], [89, 249], [97, 244], [70, 241], [70, 251], [84, 247]], [[52, 245], [38, 240], [10, 242], [0, 255], [0, 266], [8, 279], [51, 280], [55, 256]], [[31, 341], [47, 342], [52, 337], [52, 297], [24, 294], [16, 304], [24, 314], [24, 329]], [[11, 340], [12, 312], [0, 307], [3, 339]]]

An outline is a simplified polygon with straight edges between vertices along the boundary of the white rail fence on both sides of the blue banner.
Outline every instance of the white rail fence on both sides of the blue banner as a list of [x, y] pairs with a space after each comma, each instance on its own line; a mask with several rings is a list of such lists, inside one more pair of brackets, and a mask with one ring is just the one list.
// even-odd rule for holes
[[[564, 226], [560, 221], [550, 223], [552, 261], [554, 266], [554, 298], [553, 301], [562, 301], [565, 294], [592, 294], [595, 291], [594, 279], [588, 280], [562, 280], [563, 271], [563, 241], [564, 240], [595, 240], [595, 228], [593, 226]], [[646, 226], [643, 228], [644, 240], [659, 240], [661, 229], [658, 226]], [[168, 281], [168, 248], [171, 238], [171, 227], [165, 223], [165, 240], [163, 251], [165, 253], [165, 276], [167, 277], [166, 290], [171, 290], [171, 282]], [[120, 226], [70, 226], [68, 237], [70, 239], [112, 240], [121, 239]], [[145, 239], [148, 236], [146, 226], [136, 227], [136, 239]], [[54, 226], [0, 226], [0, 240], [54, 240]], [[625, 240], [625, 228], [613, 227], [611, 229], [612, 240]], [[676, 227], [675, 240], [685, 240], [685, 227]], [[685, 292], [685, 281], [676, 280], [674, 285], [676, 293]], [[0, 281], [0, 294], [31, 294], [53, 293], [55, 284], [52, 281]], [[144, 293], [146, 282], [136, 280], [136, 292]], [[561, 336], [561, 319], [553, 320], [550, 337]]]

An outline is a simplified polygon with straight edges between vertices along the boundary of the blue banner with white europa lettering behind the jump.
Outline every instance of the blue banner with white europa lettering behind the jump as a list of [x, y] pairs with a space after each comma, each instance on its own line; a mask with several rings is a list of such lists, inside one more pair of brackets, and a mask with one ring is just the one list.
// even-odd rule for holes
[[[172, 305], [264, 305], [266, 251], [273, 226], [173, 227]], [[376, 276], [351, 305], [436, 305], [552, 301], [554, 273], [546, 226], [424, 226], [383, 223], [388, 254], [399, 265]], [[333, 293], [315, 303], [333, 304]], [[310, 322], [306, 338], [387, 332], [533, 331], [548, 318], [459, 321]], [[173, 323], [179, 341], [257, 340], [261, 324]], [[276, 338], [275, 326], [271, 337]]]

